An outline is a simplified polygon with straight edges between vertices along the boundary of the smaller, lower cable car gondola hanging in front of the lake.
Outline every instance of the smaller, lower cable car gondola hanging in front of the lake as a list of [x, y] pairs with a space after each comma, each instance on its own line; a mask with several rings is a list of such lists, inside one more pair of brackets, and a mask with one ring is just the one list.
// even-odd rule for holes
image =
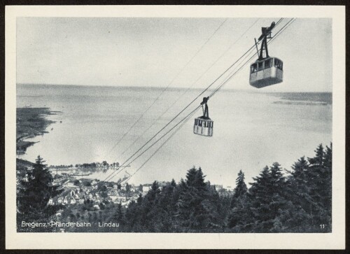
[[[214, 121], [209, 118], [208, 102], [209, 97], [204, 97], [201, 103], [203, 108], [203, 115], [195, 118], [195, 125], [193, 126], [193, 133], [201, 136], [213, 136]], [[205, 105], [205, 106], [203, 106]]]

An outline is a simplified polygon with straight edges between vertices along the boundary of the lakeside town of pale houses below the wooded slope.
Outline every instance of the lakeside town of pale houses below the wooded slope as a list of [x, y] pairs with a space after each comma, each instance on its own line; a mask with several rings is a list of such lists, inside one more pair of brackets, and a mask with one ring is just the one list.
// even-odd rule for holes
[[[25, 179], [27, 177], [25, 172], [31, 171], [34, 163], [17, 159], [17, 165], [18, 179]], [[152, 188], [152, 183], [134, 185], [127, 183], [127, 176], [116, 181], [88, 178], [92, 172], [102, 171], [106, 173], [107, 170], [120, 170], [118, 167], [118, 162], [46, 166], [45, 168], [50, 171], [52, 176], [52, 186], [62, 190], [59, 195], [50, 197], [48, 200], [49, 207], [59, 207], [53, 219], [62, 223], [70, 221], [92, 223], [92, 227], [96, 230], [98, 223], [113, 220], [118, 207], [126, 211], [132, 202], [146, 197]], [[158, 181], [158, 185], [162, 190], [170, 185], [170, 182]], [[223, 188], [223, 185], [211, 185], [211, 188], [222, 197], [232, 197], [234, 194], [234, 190], [230, 186]], [[67, 232], [73, 229], [60, 228], [59, 230]]]

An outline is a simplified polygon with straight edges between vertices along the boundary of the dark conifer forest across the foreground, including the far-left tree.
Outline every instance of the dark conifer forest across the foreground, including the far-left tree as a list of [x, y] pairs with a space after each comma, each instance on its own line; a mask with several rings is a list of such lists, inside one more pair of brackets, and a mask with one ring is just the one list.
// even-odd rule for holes
[[[220, 195], [205, 180], [201, 168], [189, 169], [186, 178], [174, 179], [151, 190], [129, 206], [105, 204], [99, 216], [89, 218], [90, 228], [69, 228], [69, 232], [331, 232], [332, 231], [332, 143], [320, 144], [314, 157], [300, 157], [290, 169], [278, 162], [264, 167], [246, 183], [244, 171], [237, 175], [233, 195]], [[45, 184], [43, 184], [45, 183]], [[37, 161], [27, 181], [19, 183], [18, 231], [22, 220], [55, 220], [48, 199], [61, 190], [52, 188], [52, 176]], [[38, 188], [41, 185], [41, 188]], [[248, 187], [249, 186], [249, 187]], [[86, 204], [85, 204], [86, 206]], [[64, 212], [62, 213], [64, 214]], [[69, 217], [70, 219], [72, 218]], [[75, 221], [85, 221], [76, 218]], [[119, 227], [98, 227], [98, 222]], [[31, 229], [25, 229], [28, 232]], [[57, 232], [55, 228], [32, 231]], [[85, 230], [85, 231], [84, 231]]]

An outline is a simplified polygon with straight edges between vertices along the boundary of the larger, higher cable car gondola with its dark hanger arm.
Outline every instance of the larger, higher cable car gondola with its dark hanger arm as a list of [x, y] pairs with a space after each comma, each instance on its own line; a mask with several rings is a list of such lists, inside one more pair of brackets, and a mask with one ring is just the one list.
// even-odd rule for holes
[[251, 64], [249, 78], [249, 83], [256, 88], [278, 84], [283, 81], [283, 62], [276, 57], [269, 57], [267, 50], [267, 38], [271, 38], [271, 31], [274, 26], [275, 24], [272, 22], [270, 27], [261, 28], [262, 34], [258, 39], [258, 41], [262, 40], [260, 54], [255, 63]]

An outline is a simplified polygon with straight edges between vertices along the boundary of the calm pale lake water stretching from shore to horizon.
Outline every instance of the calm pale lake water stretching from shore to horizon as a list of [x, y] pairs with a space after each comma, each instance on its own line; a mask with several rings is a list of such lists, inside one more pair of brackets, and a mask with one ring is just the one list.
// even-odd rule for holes
[[[48, 127], [49, 133], [31, 139], [39, 143], [18, 157], [34, 161], [41, 155], [47, 164], [55, 165], [103, 160], [123, 163], [201, 92], [189, 90], [157, 120], [185, 91], [167, 90], [116, 146], [162, 89], [18, 85], [18, 107], [45, 106], [52, 111], [62, 111], [48, 117], [56, 121]], [[199, 103], [200, 99], [185, 113]], [[201, 114], [200, 110], [195, 116]], [[319, 143], [329, 146], [332, 141], [331, 93], [223, 90], [209, 99], [209, 115], [214, 120], [214, 136], [193, 134], [193, 117], [130, 179], [130, 183], [171, 181], [172, 178], [179, 181], [195, 166], [202, 167], [211, 183], [235, 186], [239, 169], [244, 171], [249, 183], [265, 165], [279, 162], [283, 168], [290, 169], [301, 156], [313, 156]], [[126, 150], [153, 122], [155, 125]], [[127, 172], [132, 174], [137, 170], [161, 143], [135, 160]], [[109, 173], [111, 171], [99, 171], [91, 177], [104, 180]]]

